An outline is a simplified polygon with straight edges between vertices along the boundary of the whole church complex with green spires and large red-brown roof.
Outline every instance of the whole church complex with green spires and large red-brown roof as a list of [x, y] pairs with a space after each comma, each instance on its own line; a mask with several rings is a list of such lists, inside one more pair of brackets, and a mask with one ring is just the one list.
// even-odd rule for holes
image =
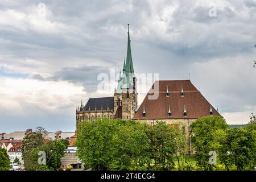
[[[218, 109], [214, 109], [190, 80], [155, 81], [142, 104], [138, 106], [129, 24], [127, 56], [122, 73], [122, 76], [119, 74], [113, 97], [90, 98], [85, 105], [81, 103], [81, 106], [77, 107], [76, 129], [81, 121], [93, 121], [96, 117], [133, 119], [153, 126], [156, 121], [161, 120], [183, 130], [190, 147], [189, 125], [197, 118], [220, 115]], [[152, 100], [152, 94], [158, 97]]]

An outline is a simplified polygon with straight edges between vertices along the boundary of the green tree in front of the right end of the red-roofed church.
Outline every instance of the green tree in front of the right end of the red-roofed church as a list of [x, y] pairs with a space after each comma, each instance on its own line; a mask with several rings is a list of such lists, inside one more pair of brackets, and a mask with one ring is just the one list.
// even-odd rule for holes
[[195, 148], [195, 158], [201, 169], [213, 169], [209, 164], [209, 152], [220, 150], [228, 128], [225, 119], [220, 116], [199, 118], [191, 124], [192, 146]]

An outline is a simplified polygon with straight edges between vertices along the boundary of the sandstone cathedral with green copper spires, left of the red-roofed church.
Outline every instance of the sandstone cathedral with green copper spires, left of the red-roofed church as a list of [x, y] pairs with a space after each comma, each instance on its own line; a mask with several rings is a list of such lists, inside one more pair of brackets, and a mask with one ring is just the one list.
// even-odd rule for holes
[[114, 97], [89, 98], [85, 105], [76, 109], [77, 124], [84, 120], [93, 121], [96, 117], [109, 117], [110, 119], [122, 118], [132, 119], [137, 109], [137, 79], [133, 69], [133, 58], [131, 57], [131, 40], [128, 24], [127, 56], [123, 63], [122, 76], [119, 73], [117, 88]]

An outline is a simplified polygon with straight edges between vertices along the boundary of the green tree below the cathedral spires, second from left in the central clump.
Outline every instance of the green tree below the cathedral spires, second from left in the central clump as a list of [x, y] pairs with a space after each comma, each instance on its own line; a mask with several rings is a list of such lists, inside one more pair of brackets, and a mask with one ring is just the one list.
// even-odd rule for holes
[[149, 125], [138, 121], [117, 122], [113, 137], [115, 153], [110, 168], [115, 170], [144, 170], [150, 168], [150, 139], [146, 130]]

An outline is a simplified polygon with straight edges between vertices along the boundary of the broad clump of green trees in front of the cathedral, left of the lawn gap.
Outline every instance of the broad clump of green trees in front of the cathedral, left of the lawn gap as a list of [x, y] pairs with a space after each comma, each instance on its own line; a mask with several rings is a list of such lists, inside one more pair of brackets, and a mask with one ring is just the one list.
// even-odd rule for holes
[[96, 118], [82, 123], [77, 133], [77, 156], [94, 170], [170, 170], [175, 165], [177, 131], [160, 121], [150, 126]]

